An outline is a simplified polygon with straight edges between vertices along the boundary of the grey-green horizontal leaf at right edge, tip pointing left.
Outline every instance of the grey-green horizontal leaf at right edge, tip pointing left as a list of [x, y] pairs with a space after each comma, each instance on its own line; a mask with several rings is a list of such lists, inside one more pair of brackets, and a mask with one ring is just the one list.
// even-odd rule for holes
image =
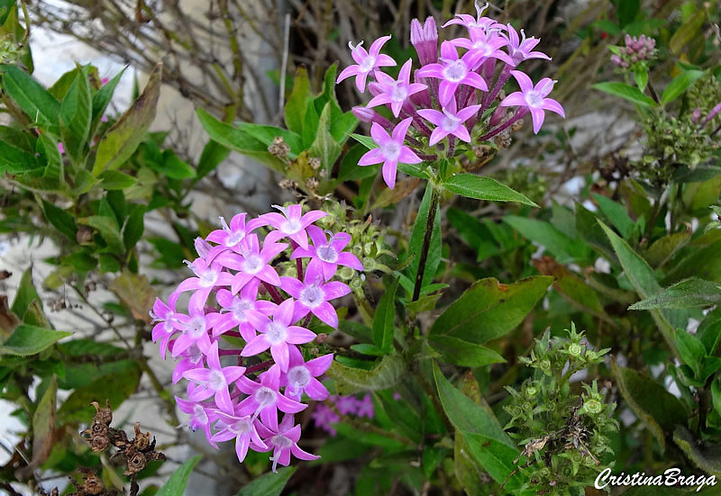
[[667, 287], [650, 298], [634, 303], [628, 309], [689, 308], [709, 306], [719, 302], [721, 302], [721, 284], [704, 281], [698, 277], [690, 277]]

